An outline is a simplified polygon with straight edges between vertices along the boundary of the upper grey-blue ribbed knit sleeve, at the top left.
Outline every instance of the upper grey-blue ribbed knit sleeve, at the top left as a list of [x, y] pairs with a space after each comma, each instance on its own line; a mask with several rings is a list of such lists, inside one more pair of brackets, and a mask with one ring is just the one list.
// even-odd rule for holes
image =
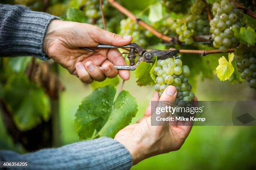
[[32, 55], [42, 60], [44, 35], [53, 15], [34, 12], [22, 5], [0, 4], [0, 57]]

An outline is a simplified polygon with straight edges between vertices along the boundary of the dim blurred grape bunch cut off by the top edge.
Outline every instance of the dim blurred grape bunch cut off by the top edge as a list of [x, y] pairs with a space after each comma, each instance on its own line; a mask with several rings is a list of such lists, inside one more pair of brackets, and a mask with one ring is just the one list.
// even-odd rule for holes
[[162, 0], [161, 4], [166, 7], [166, 11], [174, 13], [187, 13], [187, 9], [191, 5], [189, 0]]

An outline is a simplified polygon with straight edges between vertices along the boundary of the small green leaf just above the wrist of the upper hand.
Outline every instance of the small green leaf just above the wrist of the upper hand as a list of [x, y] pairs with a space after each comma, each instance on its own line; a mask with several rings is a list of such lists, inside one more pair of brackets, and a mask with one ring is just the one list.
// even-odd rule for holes
[[67, 20], [84, 23], [85, 15], [81, 10], [78, 10], [74, 7], [70, 7], [67, 9]]

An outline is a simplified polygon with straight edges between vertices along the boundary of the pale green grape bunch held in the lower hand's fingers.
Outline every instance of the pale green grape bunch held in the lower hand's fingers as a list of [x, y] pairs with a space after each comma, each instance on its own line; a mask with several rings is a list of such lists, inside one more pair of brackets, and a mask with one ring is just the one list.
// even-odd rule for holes
[[174, 85], [177, 89], [176, 102], [194, 100], [195, 94], [191, 91], [192, 86], [188, 83], [190, 70], [187, 65], [182, 66], [182, 60], [173, 60], [172, 58], [158, 60], [153, 73], [157, 75], [155, 90], [159, 92], [159, 97], [167, 86]]

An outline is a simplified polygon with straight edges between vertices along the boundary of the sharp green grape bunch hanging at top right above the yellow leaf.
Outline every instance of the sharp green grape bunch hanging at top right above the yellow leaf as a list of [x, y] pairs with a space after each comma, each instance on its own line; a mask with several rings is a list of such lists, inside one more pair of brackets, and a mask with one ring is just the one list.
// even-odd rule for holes
[[227, 52], [229, 47], [236, 47], [238, 39], [234, 37], [234, 29], [240, 29], [239, 22], [242, 14], [235, 8], [233, 2], [222, 0], [212, 5], [214, 18], [210, 21], [210, 32], [212, 32], [213, 46], [221, 52]]

